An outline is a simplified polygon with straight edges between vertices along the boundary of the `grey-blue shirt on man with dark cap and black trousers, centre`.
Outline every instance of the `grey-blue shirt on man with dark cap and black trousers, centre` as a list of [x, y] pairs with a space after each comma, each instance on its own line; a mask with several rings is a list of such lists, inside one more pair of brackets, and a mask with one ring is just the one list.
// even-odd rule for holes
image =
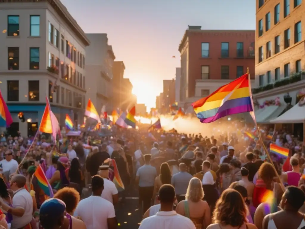
[[153, 187], [157, 176], [156, 168], [151, 165], [143, 165], [137, 171], [139, 187]]

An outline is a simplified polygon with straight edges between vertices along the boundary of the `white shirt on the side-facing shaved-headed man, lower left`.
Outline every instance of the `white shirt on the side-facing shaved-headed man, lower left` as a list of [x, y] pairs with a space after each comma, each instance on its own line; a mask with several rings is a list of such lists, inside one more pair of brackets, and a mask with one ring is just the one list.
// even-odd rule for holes
[[12, 229], [23, 228], [29, 224], [32, 220], [33, 214], [33, 199], [30, 193], [22, 188], [19, 191], [16, 191], [12, 199], [13, 208], [20, 207], [24, 209], [24, 214], [21, 217], [14, 216], [12, 220]]

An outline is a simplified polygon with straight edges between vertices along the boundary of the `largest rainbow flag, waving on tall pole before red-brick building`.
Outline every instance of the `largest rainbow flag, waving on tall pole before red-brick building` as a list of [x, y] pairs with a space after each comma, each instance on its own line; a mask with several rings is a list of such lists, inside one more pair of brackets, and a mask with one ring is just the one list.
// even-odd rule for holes
[[253, 111], [250, 90], [249, 74], [245, 74], [192, 106], [200, 122], [214, 122], [228, 115]]

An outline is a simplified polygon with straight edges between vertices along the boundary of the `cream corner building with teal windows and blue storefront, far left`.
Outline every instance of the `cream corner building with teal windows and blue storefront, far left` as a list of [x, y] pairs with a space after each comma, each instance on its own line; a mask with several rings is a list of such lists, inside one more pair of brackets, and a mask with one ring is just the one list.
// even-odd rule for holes
[[[11, 134], [35, 134], [48, 97], [60, 125], [69, 114], [83, 122], [85, 108], [84, 31], [60, 1], [3, 0], [0, 24], [0, 88], [12, 114]], [[26, 122], [18, 113], [23, 112]]]

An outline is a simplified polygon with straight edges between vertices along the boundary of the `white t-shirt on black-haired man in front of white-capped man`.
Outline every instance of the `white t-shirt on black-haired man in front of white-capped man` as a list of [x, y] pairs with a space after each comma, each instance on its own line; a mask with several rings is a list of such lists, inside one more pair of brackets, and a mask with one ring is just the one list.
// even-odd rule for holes
[[81, 200], [75, 211], [74, 217], [80, 216], [87, 229], [108, 229], [107, 219], [114, 218], [113, 204], [100, 196], [90, 196]]

